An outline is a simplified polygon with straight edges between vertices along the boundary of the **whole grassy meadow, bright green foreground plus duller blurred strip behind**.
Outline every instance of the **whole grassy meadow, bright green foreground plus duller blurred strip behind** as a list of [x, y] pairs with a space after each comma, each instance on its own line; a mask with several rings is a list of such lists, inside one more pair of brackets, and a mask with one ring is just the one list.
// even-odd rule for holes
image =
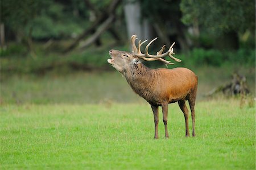
[[[253, 98], [204, 96], [233, 70], [193, 70], [197, 136], [174, 103], [158, 140], [150, 105], [117, 72], [2, 74], [0, 169], [255, 169]], [[240, 71], [254, 93], [255, 68]]]

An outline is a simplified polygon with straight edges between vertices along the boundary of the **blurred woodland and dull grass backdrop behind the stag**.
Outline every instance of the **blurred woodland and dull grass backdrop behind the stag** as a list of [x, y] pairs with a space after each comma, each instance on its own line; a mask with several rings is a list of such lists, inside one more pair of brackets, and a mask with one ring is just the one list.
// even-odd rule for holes
[[[141, 102], [106, 60], [130, 36], [176, 42], [199, 76], [198, 99], [255, 96], [255, 2], [240, 0], [2, 0], [0, 103]], [[165, 67], [157, 61], [150, 68]]]

